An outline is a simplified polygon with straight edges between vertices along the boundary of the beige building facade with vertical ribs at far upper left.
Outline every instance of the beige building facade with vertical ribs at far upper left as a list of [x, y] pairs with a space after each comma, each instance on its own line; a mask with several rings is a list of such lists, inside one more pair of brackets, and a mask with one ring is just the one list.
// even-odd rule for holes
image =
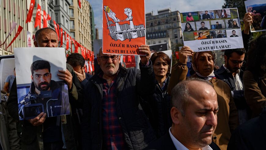
[[[27, 47], [26, 37], [28, 26], [25, 23], [27, 18], [27, 4], [26, 0], [2, 0], [0, 2], [0, 44], [4, 42], [9, 34], [13, 21], [17, 23], [17, 26], [7, 38], [6, 43], [0, 46], [0, 55], [11, 55], [14, 53], [13, 48]], [[19, 25], [23, 27], [23, 30], [13, 44], [5, 50], [13, 37], [15, 37]]]

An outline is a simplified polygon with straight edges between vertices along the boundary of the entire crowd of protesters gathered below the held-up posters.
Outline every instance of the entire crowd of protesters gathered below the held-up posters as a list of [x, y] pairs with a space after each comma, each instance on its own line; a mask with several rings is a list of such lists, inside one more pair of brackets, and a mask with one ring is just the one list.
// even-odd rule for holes
[[[244, 48], [225, 50], [225, 63], [216, 71], [214, 51], [188, 46], [179, 51], [171, 74], [169, 56], [151, 56], [148, 45], [138, 48], [146, 54], [140, 69], [122, 67], [120, 55], [101, 48], [93, 76], [84, 71], [83, 56], [72, 53], [67, 70], [58, 74], [68, 86], [69, 115], [40, 113], [18, 124], [14, 72], [6, 80], [14, 78], [13, 84], [1, 91], [0, 150], [266, 149], [266, 35], [249, 43], [251, 14], [243, 21]], [[50, 28], [39, 29], [35, 40], [35, 47], [58, 47]], [[188, 57], [196, 72], [190, 77]]]

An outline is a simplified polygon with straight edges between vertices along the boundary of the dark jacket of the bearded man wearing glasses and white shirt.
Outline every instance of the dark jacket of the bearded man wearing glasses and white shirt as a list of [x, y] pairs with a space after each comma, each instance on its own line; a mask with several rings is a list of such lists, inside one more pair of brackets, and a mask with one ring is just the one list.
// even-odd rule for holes
[[[218, 70], [214, 71], [214, 74], [217, 79], [223, 80], [225, 83], [227, 83], [231, 91], [233, 91], [234, 93], [233, 98], [236, 108], [246, 109], [248, 105], [245, 100], [244, 90], [235, 89], [235, 81], [233, 74], [231, 72], [227, 72], [227, 70], [224, 68], [223, 65]], [[244, 71], [240, 70], [239, 78], [242, 81], [242, 84], [243, 84], [243, 74]]]

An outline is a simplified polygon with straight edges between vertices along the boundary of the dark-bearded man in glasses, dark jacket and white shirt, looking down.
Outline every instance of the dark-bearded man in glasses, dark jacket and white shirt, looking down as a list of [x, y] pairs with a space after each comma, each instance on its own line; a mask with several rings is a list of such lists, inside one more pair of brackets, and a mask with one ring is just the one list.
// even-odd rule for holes
[[238, 110], [239, 123], [242, 124], [250, 119], [250, 109], [244, 97], [243, 73], [240, 68], [245, 63], [245, 48], [227, 49], [224, 52], [225, 64], [214, 72], [216, 78], [226, 82], [234, 98]]

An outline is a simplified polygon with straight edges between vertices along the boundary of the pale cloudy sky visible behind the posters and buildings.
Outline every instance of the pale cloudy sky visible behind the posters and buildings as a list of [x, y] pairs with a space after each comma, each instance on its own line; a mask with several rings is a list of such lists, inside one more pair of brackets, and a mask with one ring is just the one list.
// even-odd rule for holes
[[[99, 29], [99, 39], [102, 39], [102, 1], [88, 1], [94, 11], [94, 23], [95, 28]], [[220, 9], [224, 5], [224, 0], [145, 0], [145, 5], [146, 13], [153, 11], [153, 14], [156, 15], [157, 10], [169, 7], [172, 11], [178, 10], [179, 12]]]

